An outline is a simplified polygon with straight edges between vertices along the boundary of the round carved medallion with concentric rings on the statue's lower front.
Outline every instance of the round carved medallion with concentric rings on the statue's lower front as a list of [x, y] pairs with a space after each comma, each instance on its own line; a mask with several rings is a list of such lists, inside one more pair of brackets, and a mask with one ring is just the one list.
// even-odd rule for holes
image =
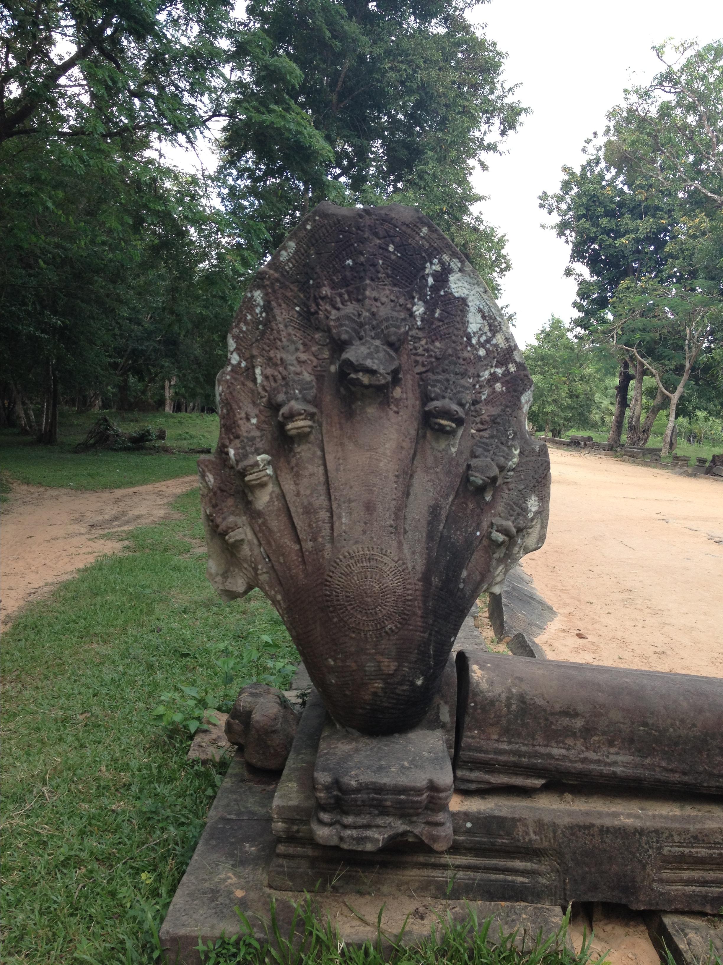
[[407, 616], [407, 569], [375, 546], [355, 546], [336, 557], [324, 581], [332, 620], [352, 633], [394, 633]]

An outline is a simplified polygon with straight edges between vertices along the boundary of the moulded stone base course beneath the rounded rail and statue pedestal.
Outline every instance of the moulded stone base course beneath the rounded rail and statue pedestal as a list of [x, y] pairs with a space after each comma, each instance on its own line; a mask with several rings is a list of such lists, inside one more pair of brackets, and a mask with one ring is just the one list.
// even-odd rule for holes
[[317, 844], [313, 768], [325, 719], [312, 691], [274, 799], [274, 888], [709, 913], [723, 904], [723, 802], [710, 795], [579, 785], [458, 792], [442, 853], [412, 838], [372, 853]]

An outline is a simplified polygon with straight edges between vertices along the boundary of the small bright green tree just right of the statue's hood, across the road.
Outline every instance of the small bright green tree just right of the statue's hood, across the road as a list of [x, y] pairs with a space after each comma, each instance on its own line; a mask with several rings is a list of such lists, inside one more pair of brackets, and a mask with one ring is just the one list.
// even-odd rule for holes
[[550, 317], [525, 348], [524, 362], [532, 376], [529, 421], [560, 437], [566, 429], [586, 426], [595, 404], [597, 372], [589, 352], [570, 334], [560, 318]]

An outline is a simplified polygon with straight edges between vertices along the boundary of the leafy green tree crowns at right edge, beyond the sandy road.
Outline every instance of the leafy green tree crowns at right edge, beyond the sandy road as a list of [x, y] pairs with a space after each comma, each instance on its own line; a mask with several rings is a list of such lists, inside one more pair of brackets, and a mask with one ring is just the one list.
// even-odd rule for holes
[[571, 246], [576, 324], [656, 378], [667, 438], [686, 384], [723, 404], [723, 43], [678, 45], [675, 63], [654, 49], [664, 69], [624, 93], [603, 143], [540, 202]]

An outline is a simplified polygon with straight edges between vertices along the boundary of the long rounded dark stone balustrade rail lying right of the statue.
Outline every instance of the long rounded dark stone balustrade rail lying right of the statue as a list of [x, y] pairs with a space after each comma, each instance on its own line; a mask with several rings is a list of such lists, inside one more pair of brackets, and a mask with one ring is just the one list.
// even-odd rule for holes
[[550, 781], [720, 794], [723, 680], [457, 654], [455, 787]]

